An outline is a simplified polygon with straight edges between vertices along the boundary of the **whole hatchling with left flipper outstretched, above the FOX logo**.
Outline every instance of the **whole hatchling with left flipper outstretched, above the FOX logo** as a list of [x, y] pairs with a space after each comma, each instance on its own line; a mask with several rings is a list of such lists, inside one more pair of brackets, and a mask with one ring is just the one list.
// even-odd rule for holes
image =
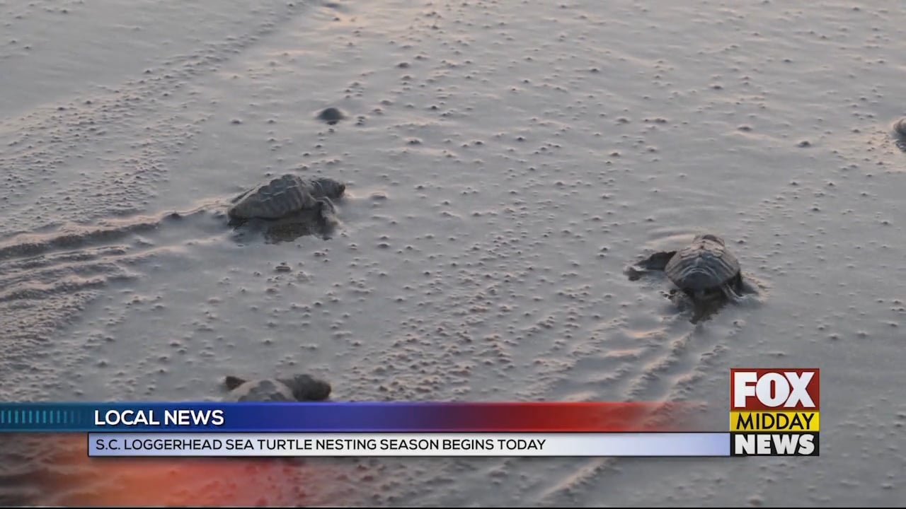
[[738, 303], [742, 295], [757, 293], [747, 283], [737, 257], [730, 253], [724, 239], [714, 234], [696, 235], [678, 251], [661, 251], [642, 260], [627, 273], [631, 280], [642, 274], [663, 271], [696, 306], [693, 322], [723, 303]]

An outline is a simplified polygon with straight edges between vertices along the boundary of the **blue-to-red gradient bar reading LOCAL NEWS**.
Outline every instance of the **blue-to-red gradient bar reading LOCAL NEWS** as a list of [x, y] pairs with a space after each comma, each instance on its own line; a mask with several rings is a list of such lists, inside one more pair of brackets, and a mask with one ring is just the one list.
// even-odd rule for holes
[[[667, 424], [649, 424], [669, 408]], [[62, 418], [38, 416], [55, 414]], [[667, 402], [135, 402], [0, 404], [0, 432], [675, 432], [700, 412]]]

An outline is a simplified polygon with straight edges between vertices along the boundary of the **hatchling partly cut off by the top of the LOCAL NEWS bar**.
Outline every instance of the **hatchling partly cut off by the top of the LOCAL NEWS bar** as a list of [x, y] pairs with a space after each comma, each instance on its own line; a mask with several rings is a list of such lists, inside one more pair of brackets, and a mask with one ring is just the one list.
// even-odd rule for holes
[[246, 380], [229, 375], [224, 379], [229, 393], [226, 401], [323, 401], [331, 395], [331, 384], [309, 374], [288, 379]]

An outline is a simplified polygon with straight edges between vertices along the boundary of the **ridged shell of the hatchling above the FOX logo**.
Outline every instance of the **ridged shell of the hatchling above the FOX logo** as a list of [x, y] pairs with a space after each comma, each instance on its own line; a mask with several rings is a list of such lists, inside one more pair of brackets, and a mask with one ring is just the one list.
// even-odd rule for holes
[[664, 270], [683, 290], [711, 290], [736, 277], [739, 262], [718, 235], [697, 235], [670, 258]]

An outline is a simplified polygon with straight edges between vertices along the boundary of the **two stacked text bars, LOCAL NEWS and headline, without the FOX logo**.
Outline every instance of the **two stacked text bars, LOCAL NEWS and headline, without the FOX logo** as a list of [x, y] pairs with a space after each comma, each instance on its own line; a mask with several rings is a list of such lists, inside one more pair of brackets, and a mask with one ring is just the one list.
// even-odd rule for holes
[[663, 408], [606, 402], [24, 403], [0, 405], [0, 429], [88, 432], [89, 456], [729, 456], [726, 432], [689, 431], [681, 419], [645, 424]]

